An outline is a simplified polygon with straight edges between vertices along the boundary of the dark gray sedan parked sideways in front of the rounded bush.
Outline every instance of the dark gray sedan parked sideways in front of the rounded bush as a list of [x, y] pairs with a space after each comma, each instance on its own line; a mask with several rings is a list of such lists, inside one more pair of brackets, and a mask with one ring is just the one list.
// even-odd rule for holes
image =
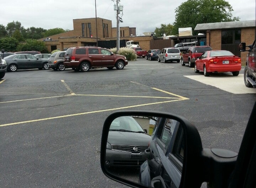
[[14, 54], [5, 57], [7, 71], [15, 72], [17, 69], [49, 69], [48, 60], [34, 57], [30, 54]]

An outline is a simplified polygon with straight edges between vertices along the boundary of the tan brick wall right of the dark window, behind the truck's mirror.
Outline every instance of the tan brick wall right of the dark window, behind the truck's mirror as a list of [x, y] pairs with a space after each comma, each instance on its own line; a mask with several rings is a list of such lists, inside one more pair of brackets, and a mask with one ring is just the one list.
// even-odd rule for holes
[[[255, 28], [244, 28], [241, 30], [241, 42], [251, 45], [255, 39]], [[245, 65], [248, 52], [241, 52], [241, 61]]]

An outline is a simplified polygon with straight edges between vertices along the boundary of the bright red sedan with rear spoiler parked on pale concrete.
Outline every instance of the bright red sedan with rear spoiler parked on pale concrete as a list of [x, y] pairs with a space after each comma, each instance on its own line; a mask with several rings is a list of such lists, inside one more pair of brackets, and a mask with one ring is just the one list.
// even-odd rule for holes
[[195, 62], [195, 73], [204, 72], [209, 76], [211, 72], [232, 72], [238, 76], [241, 70], [241, 58], [227, 50], [212, 50], [204, 52]]

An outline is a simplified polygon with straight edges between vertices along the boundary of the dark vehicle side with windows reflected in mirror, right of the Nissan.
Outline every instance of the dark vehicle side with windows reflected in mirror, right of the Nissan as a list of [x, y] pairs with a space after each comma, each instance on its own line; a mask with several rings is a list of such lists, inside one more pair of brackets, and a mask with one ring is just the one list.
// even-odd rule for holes
[[150, 186], [152, 180], [161, 177], [164, 181], [172, 181], [172, 188], [178, 188], [184, 157], [183, 128], [180, 122], [158, 118], [151, 138], [145, 151], [147, 160], [140, 167], [139, 182]]

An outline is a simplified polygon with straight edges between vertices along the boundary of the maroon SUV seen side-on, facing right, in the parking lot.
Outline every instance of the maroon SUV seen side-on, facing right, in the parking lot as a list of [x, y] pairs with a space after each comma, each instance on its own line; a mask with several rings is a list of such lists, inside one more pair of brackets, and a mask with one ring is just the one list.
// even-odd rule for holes
[[94, 67], [123, 69], [128, 64], [125, 56], [95, 46], [72, 47], [65, 53], [64, 65], [75, 71], [87, 72]]

